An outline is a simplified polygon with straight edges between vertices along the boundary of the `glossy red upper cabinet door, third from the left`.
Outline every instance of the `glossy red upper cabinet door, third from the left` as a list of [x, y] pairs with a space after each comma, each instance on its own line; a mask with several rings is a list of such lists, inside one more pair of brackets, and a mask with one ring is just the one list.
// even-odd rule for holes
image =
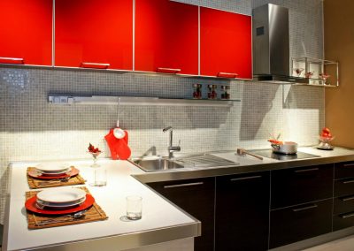
[[135, 0], [135, 70], [198, 74], [196, 5]]

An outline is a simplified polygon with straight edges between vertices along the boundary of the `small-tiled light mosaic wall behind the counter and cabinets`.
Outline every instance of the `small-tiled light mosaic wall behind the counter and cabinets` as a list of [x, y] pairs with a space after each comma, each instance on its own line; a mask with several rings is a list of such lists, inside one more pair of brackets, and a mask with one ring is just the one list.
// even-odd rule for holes
[[[265, 0], [183, 1], [250, 14]], [[320, 0], [271, 1], [289, 7], [290, 57], [322, 57]], [[88, 158], [89, 142], [109, 150], [104, 135], [117, 119], [116, 105], [60, 106], [49, 93], [191, 97], [192, 84], [230, 85], [231, 108], [121, 106], [120, 125], [129, 132], [134, 155], [166, 154], [172, 125], [185, 153], [220, 149], [266, 148], [268, 133], [300, 145], [316, 144], [324, 124], [324, 90], [249, 81], [198, 80], [167, 75], [0, 68], [0, 222], [4, 217], [11, 161]]]

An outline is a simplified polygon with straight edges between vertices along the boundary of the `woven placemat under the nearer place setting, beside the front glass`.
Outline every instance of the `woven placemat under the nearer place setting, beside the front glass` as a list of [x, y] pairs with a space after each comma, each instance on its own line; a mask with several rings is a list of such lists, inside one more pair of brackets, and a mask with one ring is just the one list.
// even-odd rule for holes
[[[78, 187], [89, 194], [89, 189], [87, 187]], [[26, 192], [26, 200], [35, 196], [41, 191], [30, 191]], [[73, 218], [66, 216], [52, 216], [52, 215], [40, 215], [27, 210], [27, 221], [29, 229], [41, 229], [54, 226], [70, 225], [70, 224], [82, 224], [93, 221], [105, 220], [108, 217], [104, 213], [104, 210], [97, 205], [96, 202], [89, 208], [85, 213], [84, 217]]]

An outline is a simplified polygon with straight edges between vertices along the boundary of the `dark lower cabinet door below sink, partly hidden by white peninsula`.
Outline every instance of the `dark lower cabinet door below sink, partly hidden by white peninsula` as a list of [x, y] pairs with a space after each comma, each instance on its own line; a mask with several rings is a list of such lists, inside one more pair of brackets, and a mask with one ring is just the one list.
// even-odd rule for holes
[[147, 185], [202, 222], [202, 236], [195, 239], [196, 251], [214, 250], [215, 178], [174, 180]]

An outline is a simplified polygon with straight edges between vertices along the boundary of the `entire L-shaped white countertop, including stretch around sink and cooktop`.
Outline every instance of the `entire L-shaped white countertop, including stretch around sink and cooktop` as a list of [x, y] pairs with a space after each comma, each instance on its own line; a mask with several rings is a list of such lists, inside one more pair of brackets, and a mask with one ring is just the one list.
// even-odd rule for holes
[[[354, 160], [354, 151], [345, 148], [335, 148], [334, 150], [319, 150], [313, 147], [298, 148], [298, 151], [320, 156], [323, 159], [327, 157], [346, 157], [350, 160]], [[280, 163], [293, 163], [302, 160], [290, 160], [280, 161], [270, 158], [264, 158], [258, 160], [252, 156], [237, 156], [235, 152], [215, 153], [215, 156], [220, 156], [236, 163], [239, 163], [237, 168], [244, 168], [247, 166], [255, 167], [258, 165], [274, 166]], [[312, 158], [318, 160], [319, 158]], [[341, 158], [342, 159], [342, 158]], [[177, 209], [175, 206], [166, 202], [158, 194], [155, 194], [147, 186], [144, 186], [140, 181], [132, 177], [132, 175], [138, 175], [137, 177], [158, 177], [163, 175], [168, 179], [174, 179], [173, 174], [176, 174], [181, 178], [182, 173], [193, 173], [191, 169], [183, 169], [178, 171], [158, 171], [153, 173], [147, 173], [134, 164], [130, 164], [127, 161], [112, 161], [107, 159], [101, 159], [100, 164], [108, 170], [108, 182], [105, 187], [89, 186], [89, 183], [93, 180], [94, 169], [89, 167], [91, 161], [71, 162], [80, 171], [81, 176], [87, 179], [87, 187], [91, 194], [94, 195], [96, 202], [104, 209], [105, 213], [109, 217], [105, 221], [97, 221], [87, 224], [76, 224], [70, 226], [53, 227], [40, 230], [28, 230], [26, 210], [24, 209], [25, 192], [29, 191], [26, 178], [27, 166], [33, 165], [30, 163], [24, 164], [12, 164], [12, 176], [11, 176], [11, 203], [10, 213], [8, 220], [10, 222], [8, 228], [8, 242], [7, 250], [19, 250], [29, 248], [42, 248], [48, 246], [63, 245], [67, 243], [80, 242], [81, 240], [95, 240], [90, 242], [90, 250], [100, 249], [100, 247], [93, 247], [101, 238], [107, 237], [124, 237], [126, 239], [113, 239], [113, 245], [118, 245], [115, 250], [125, 249], [122, 248], [125, 244], [126, 248], [141, 247], [144, 243], [139, 240], [138, 236], [135, 241], [126, 241], [130, 236], [139, 235], [142, 232], [150, 232], [155, 235], [149, 235], [150, 239], [154, 239], [159, 229], [167, 229], [178, 227], [185, 224], [198, 224], [196, 219], [189, 217], [186, 213]], [[269, 164], [269, 165], [268, 165]], [[227, 168], [222, 168], [227, 170]], [[210, 169], [209, 169], [210, 170]], [[232, 170], [232, 168], [230, 169]], [[197, 176], [200, 173], [197, 173]], [[209, 175], [209, 174], [207, 174]], [[201, 176], [200, 176], [201, 177]], [[164, 178], [165, 179], [165, 178]], [[129, 194], [139, 194], [142, 196], [142, 219], [133, 222], [124, 222], [119, 218], [126, 214], [126, 196]], [[173, 240], [173, 234], [170, 232], [168, 238], [164, 240], [161, 237], [156, 243], [162, 241]], [[187, 237], [192, 237], [190, 234]], [[174, 237], [175, 240], [178, 237]], [[107, 240], [107, 239], [104, 239]], [[153, 241], [153, 240], [151, 240]], [[129, 245], [127, 246], [127, 242]], [[150, 242], [151, 243], [151, 242]], [[153, 242], [152, 242], [153, 243]], [[144, 244], [146, 245], [146, 243]], [[60, 246], [59, 246], [60, 247]], [[61, 246], [62, 247], [62, 246]], [[113, 246], [114, 247], [114, 246]], [[119, 249], [120, 247], [120, 249]], [[3, 247], [4, 248], [4, 247]], [[102, 248], [101, 248], [102, 249]], [[6, 249], [4, 249], [6, 250]], [[50, 249], [51, 250], [51, 249]], [[57, 250], [57, 249], [56, 249]], [[65, 249], [58, 249], [65, 250]], [[75, 249], [71, 249], [75, 250]], [[104, 248], [104, 251], [108, 249]]]

